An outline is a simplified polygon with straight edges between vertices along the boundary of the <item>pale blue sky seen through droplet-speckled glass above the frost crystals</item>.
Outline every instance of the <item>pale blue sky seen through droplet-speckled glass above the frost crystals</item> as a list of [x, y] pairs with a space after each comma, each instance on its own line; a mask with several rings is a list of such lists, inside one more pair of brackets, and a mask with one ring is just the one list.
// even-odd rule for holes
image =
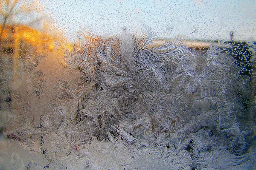
[[256, 0], [39, 0], [64, 34], [99, 35], [140, 27], [155, 37], [256, 40]]

